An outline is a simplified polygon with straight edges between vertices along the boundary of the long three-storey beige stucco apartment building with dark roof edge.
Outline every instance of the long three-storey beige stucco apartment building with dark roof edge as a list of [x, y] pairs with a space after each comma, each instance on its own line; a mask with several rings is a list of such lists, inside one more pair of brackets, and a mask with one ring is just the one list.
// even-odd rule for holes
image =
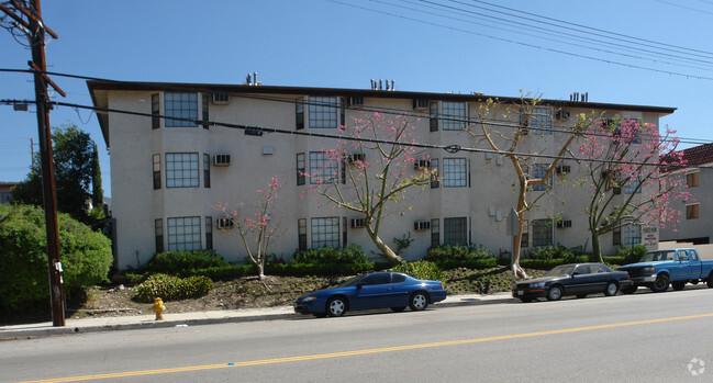
[[[300, 177], [301, 171], [310, 173], [324, 164], [323, 149], [335, 147], [335, 140], [324, 135], [336, 134], [341, 124], [348, 128], [364, 111], [404, 115], [415, 126], [417, 143], [486, 148], [463, 132], [489, 98], [482, 93], [103, 81], [88, 81], [88, 88], [94, 105], [107, 110], [98, 115], [111, 156], [120, 270], [143, 264], [157, 251], [182, 249], [213, 249], [227, 261], [243, 262], [243, 245], [234, 229], [221, 227], [222, 214], [215, 206], [227, 203], [230, 210], [241, 202], [252, 203], [255, 191], [272, 177], [283, 184], [270, 212], [270, 219], [280, 224], [280, 235], [270, 247], [277, 257], [287, 260], [300, 249], [358, 244], [378, 258], [366, 230], [354, 221], [359, 216], [333, 209], [309, 192], [311, 179]], [[504, 119], [516, 125], [521, 99], [498, 101], [493, 108], [502, 114], [510, 111]], [[528, 135], [520, 149], [541, 154], [559, 148], [568, 137], [561, 127], [571, 125], [577, 113], [593, 111], [603, 117], [621, 115], [658, 124], [660, 116], [675, 111], [559, 100], [542, 100], [537, 108], [539, 132]], [[258, 128], [245, 128], [250, 126]], [[393, 238], [413, 239], [402, 254], [408, 260], [442, 244], [482, 245], [494, 254], [512, 250], [506, 233], [509, 212], [517, 202], [512, 165], [497, 154], [450, 151], [424, 149], [423, 158], [428, 158], [427, 166], [439, 179], [409, 190], [398, 205], [389, 207], [381, 225], [380, 237], [392, 248]], [[538, 164], [533, 164], [533, 172], [537, 169]], [[565, 160], [559, 169], [548, 187], [531, 193], [552, 189], [537, 209], [527, 212], [523, 251], [588, 243], [582, 215], [586, 187], [567, 185], [571, 183], [567, 179], [578, 177], [577, 161]], [[605, 254], [614, 252], [621, 243], [643, 241], [640, 227], [614, 237], [602, 239]]]

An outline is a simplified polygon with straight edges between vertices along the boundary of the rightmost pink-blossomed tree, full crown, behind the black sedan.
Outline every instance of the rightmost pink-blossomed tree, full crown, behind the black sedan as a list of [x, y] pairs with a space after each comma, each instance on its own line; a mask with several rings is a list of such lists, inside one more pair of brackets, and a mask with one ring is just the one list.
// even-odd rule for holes
[[686, 178], [667, 172], [681, 168], [682, 153], [677, 153], [676, 131], [664, 135], [655, 124], [642, 120], [598, 120], [591, 134], [579, 147], [586, 169], [584, 185], [592, 190], [588, 216], [592, 250], [602, 261], [600, 237], [631, 225], [678, 223], [680, 211], [673, 202], [688, 201]]

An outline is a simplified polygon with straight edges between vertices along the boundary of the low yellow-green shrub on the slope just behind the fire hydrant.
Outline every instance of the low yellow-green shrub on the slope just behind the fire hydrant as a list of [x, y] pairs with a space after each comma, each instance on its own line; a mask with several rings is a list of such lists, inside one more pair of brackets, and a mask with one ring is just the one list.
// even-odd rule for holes
[[136, 286], [132, 298], [144, 303], [152, 303], [155, 297], [160, 297], [164, 301], [178, 301], [203, 296], [213, 288], [213, 281], [203, 275], [180, 279], [167, 274], [153, 274]]

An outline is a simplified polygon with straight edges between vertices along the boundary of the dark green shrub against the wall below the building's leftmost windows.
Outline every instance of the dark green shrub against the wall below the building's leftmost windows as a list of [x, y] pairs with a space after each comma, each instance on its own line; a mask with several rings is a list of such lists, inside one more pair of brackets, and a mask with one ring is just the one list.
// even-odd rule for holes
[[226, 264], [229, 263], [223, 257], [213, 250], [166, 251], [154, 256], [146, 264], [146, 270], [176, 275], [186, 270]]

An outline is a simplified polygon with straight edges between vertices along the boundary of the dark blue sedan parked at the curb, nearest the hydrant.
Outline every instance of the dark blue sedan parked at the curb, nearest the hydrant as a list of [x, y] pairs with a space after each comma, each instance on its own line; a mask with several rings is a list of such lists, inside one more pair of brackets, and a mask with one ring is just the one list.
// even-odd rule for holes
[[375, 272], [354, 277], [333, 289], [300, 296], [294, 312], [317, 317], [342, 316], [347, 311], [406, 307], [417, 312], [446, 298], [441, 281], [420, 280], [400, 272]]

